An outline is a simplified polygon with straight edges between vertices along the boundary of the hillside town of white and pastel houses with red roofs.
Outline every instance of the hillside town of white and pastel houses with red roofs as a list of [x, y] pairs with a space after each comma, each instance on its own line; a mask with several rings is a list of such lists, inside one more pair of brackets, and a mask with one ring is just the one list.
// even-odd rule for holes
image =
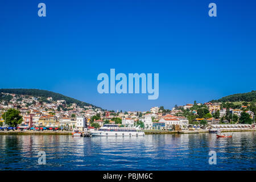
[[[5, 110], [15, 108], [20, 111], [23, 117], [21, 126], [24, 127], [60, 127], [62, 129], [77, 128], [84, 131], [90, 126], [90, 124], [98, 123], [103, 126], [106, 120], [110, 124], [117, 124], [112, 121], [112, 118], [121, 118], [122, 124], [126, 127], [133, 127], [137, 125], [137, 122], [144, 123], [144, 129], [147, 130], [173, 130], [174, 126], [179, 126], [180, 129], [188, 129], [188, 119], [180, 117], [181, 107], [183, 109], [190, 109], [193, 104], [186, 104], [184, 106], [174, 107], [168, 113], [162, 112], [159, 107], [151, 107], [150, 111], [106, 111], [93, 106], [78, 106], [77, 104], [66, 104], [65, 100], [53, 101], [52, 97], [48, 97], [49, 102], [39, 102], [40, 97], [15, 95], [10, 93], [11, 100], [6, 104], [6, 101], [0, 102], [0, 122], [4, 121], [1, 115]], [[220, 111], [220, 117], [226, 115], [226, 108], [220, 107], [221, 103], [207, 102], [204, 105], [207, 106], [210, 113]], [[201, 104], [197, 104], [201, 105]], [[242, 106], [245, 107], [245, 106]], [[237, 114], [240, 117], [242, 110], [229, 108], [232, 114]], [[197, 114], [196, 110], [191, 110], [192, 113]], [[254, 113], [250, 110], [246, 111], [250, 114], [251, 118], [254, 118]], [[94, 115], [100, 115], [100, 119], [90, 121]], [[200, 119], [200, 118], [199, 118]], [[113, 119], [114, 120], [114, 119]], [[209, 120], [209, 119], [208, 119]]]

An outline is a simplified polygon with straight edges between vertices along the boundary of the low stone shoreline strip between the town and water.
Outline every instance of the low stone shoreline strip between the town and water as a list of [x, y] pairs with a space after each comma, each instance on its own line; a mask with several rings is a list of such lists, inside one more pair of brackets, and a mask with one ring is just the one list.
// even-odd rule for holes
[[[256, 131], [256, 129], [225, 129], [221, 132]], [[198, 134], [209, 133], [208, 130], [183, 130], [183, 131], [164, 131], [164, 130], [144, 130], [145, 135], [154, 134]], [[0, 135], [72, 135], [72, 131], [0, 131]]]

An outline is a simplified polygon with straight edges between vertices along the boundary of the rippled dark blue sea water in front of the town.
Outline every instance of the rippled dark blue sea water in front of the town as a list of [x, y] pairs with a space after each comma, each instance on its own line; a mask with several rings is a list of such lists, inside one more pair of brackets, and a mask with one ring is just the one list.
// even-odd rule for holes
[[[255, 132], [73, 138], [0, 135], [0, 170], [255, 170]], [[210, 165], [209, 151], [217, 164]], [[46, 164], [38, 164], [38, 152]]]

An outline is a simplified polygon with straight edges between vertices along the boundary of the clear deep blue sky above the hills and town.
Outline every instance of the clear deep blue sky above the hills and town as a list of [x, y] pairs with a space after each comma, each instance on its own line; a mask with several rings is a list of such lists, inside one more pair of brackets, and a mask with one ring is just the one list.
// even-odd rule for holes
[[[38, 3], [46, 3], [46, 17]], [[208, 5], [217, 5], [217, 17]], [[36, 88], [108, 110], [171, 109], [256, 85], [256, 1], [1, 1], [0, 88]], [[159, 73], [159, 98], [99, 94], [97, 76]]]

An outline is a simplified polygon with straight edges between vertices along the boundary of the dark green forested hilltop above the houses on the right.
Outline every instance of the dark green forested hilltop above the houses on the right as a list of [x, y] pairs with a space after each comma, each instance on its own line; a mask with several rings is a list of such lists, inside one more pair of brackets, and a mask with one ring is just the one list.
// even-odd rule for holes
[[219, 100], [212, 100], [210, 102], [240, 102], [240, 101], [256, 101], [256, 90], [247, 93], [238, 93], [230, 96], [225, 96]]

